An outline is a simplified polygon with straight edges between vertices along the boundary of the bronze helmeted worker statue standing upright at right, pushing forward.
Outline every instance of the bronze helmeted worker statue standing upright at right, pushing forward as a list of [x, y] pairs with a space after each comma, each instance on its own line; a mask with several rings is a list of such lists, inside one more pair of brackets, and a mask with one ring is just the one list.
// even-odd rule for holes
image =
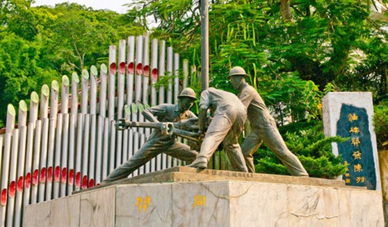
[[252, 126], [250, 134], [248, 134], [241, 145], [248, 171], [254, 173], [252, 155], [261, 143], [264, 142], [279, 157], [291, 175], [308, 176], [309, 174], [303, 168], [298, 157], [293, 155], [289, 148], [287, 148], [286, 143], [284, 143], [282, 136], [277, 130], [275, 119], [270, 116], [266, 104], [264, 104], [259, 93], [245, 82], [245, 77], [248, 77], [245, 70], [236, 66], [230, 70], [227, 77], [232, 82], [233, 88], [239, 91], [239, 99], [247, 108], [248, 120]]

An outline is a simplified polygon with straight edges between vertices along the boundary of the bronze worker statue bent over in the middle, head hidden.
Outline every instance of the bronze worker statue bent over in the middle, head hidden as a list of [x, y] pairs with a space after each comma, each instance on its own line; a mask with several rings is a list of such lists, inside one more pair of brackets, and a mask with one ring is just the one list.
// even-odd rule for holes
[[211, 155], [222, 142], [234, 170], [248, 172], [239, 145], [239, 136], [247, 118], [246, 108], [233, 93], [207, 88], [202, 91], [200, 98], [199, 133], [204, 132], [208, 109], [213, 111], [213, 118], [202, 141], [200, 154], [188, 166], [207, 168]]

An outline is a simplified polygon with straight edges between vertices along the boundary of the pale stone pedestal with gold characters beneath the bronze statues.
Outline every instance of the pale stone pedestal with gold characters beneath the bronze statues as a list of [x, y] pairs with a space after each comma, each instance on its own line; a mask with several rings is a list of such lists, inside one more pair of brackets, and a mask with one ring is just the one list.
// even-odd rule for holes
[[29, 205], [24, 225], [384, 226], [384, 215], [380, 191], [341, 180], [174, 167]]

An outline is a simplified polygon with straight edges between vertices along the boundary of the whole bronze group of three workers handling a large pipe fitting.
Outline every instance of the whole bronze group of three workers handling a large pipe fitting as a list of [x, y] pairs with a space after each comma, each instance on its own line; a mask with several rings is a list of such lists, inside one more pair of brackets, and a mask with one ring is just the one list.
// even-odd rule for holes
[[[275, 120], [270, 116], [259, 93], [245, 81], [247, 76], [245, 70], [239, 66], [229, 72], [228, 79], [233, 88], [239, 91], [238, 96], [216, 88], [202, 91], [198, 116], [190, 111], [197, 100], [195, 91], [191, 88], [181, 91], [178, 104], [159, 104], [145, 109], [143, 116], [156, 126], [152, 134], [140, 150], [112, 171], [102, 184], [127, 178], [161, 152], [186, 161], [188, 166], [206, 169], [211, 155], [220, 143], [223, 143], [234, 171], [254, 173], [252, 155], [264, 142], [279, 157], [291, 175], [308, 176], [296, 155], [286, 147]], [[210, 123], [209, 111], [212, 113]], [[247, 118], [252, 130], [240, 146], [239, 136]], [[119, 125], [121, 129], [130, 126], [122, 122]], [[192, 132], [194, 130], [197, 132]], [[195, 146], [196, 148], [188, 146], [177, 141], [176, 136], [200, 141], [200, 145]]]

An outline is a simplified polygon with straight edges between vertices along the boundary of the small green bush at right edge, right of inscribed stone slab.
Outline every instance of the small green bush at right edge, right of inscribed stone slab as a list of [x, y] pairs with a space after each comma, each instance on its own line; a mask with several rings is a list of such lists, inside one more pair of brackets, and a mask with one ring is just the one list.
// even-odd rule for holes
[[379, 150], [388, 150], [388, 100], [373, 108], [373, 123]]

